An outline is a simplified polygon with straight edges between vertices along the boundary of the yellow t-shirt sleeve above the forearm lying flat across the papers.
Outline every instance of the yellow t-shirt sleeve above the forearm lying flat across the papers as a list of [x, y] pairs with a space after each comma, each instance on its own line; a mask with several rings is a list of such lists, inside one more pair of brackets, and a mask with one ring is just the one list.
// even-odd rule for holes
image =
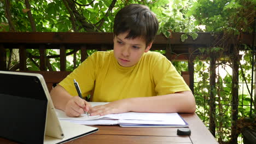
[[183, 77], [166, 57], [162, 56], [158, 59], [153, 68], [153, 80], [157, 95], [191, 91]]

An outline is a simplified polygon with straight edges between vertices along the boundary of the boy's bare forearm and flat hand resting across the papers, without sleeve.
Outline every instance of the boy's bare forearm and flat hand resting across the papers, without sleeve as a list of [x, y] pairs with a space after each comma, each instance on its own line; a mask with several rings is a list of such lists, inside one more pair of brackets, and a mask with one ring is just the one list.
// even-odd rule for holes
[[90, 109], [91, 116], [123, 112], [181, 112], [194, 113], [195, 98], [192, 92], [184, 91], [154, 97], [128, 98], [113, 101]]

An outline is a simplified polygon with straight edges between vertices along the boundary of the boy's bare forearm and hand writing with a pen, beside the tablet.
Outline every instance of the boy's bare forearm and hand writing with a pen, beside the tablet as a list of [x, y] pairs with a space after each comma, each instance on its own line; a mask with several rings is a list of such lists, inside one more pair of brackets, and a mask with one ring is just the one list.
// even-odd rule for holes
[[66, 115], [70, 117], [78, 117], [84, 111], [89, 111], [91, 107], [87, 101], [78, 96], [73, 97], [60, 85], [54, 87], [50, 95], [55, 108], [65, 111]]

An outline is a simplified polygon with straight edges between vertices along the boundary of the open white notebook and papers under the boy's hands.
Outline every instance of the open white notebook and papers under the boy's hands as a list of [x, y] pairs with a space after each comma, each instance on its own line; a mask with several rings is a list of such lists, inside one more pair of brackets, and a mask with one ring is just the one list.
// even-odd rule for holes
[[84, 125], [114, 125], [121, 127], [188, 127], [188, 123], [178, 113], [143, 113], [126, 112], [105, 116], [82, 115], [80, 117], [68, 117], [65, 112], [57, 110], [57, 117], [61, 121], [69, 121]]

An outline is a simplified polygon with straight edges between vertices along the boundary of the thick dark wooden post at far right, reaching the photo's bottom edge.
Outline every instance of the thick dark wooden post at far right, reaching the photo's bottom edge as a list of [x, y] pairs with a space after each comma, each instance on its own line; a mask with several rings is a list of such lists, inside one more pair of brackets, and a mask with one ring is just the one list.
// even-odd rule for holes
[[[233, 49], [232, 49], [233, 48]], [[238, 115], [238, 68], [239, 68], [239, 48], [232, 45], [232, 127], [231, 143], [237, 143], [237, 115]]]

